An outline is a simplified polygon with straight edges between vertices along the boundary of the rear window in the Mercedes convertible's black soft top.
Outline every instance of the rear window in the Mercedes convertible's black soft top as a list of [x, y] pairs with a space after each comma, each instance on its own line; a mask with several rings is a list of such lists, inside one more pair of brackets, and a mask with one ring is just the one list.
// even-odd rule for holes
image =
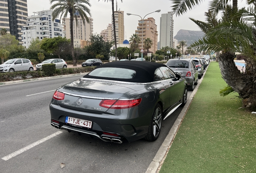
[[89, 73], [89, 76], [107, 77], [107, 78], [122, 78], [131, 79], [134, 78], [136, 71], [126, 68], [96, 68]]

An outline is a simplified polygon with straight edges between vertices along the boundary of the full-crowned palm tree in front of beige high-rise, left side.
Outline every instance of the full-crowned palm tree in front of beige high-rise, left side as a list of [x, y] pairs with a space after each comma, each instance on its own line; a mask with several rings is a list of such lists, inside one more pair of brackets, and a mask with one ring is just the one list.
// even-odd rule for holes
[[[76, 25], [78, 24], [77, 15], [75, 15], [75, 12], [79, 13], [79, 16], [83, 20], [83, 24], [85, 24], [85, 20], [87, 23], [89, 23], [89, 16], [91, 16], [90, 9], [86, 6], [90, 6], [89, 0], [50, 0], [50, 4], [56, 2], [56, 4], [53, 4], [50, 8], [50, 10], [53, 10], [52, 12], [52, 20], [55, 20], [58, 16], [62, 18], [63, 21], [65, 21], [65, 18], [67, 17], [68, 13], [70, 14], [70, 40], [71, 40], [71, 53], [72, 53], [72, 59], [73, 59], [73, 66], [76, 66], [76, 58], [74, 56], [74, 30], [73, 30], [73, 22], [74, 18], [76, 20]], [[87, 13], [87, 14], [86, 14]]]

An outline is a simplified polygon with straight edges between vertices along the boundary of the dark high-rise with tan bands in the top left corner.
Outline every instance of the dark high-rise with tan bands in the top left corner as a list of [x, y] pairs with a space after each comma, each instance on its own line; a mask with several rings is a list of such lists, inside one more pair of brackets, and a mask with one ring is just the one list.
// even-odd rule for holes
[[22, 44], [21, 28], [26, 25], [27, 0], [0, 0], [0, 29], [16, 36]]

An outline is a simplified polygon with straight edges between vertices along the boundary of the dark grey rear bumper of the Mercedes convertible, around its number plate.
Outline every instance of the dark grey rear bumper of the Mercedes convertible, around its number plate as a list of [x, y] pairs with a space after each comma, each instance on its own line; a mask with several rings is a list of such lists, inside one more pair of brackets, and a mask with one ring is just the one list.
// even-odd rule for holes
[[[113, 119], [113, 116], [108, 114], [99, 115], [94, 113], [85, 113], [60, 107], [59, 105], [54, 105], [52, 103], [50, 104], [50, 113], [51, 125], [53, 127], [64, 129], [68, 132], [88, 134], [103, 141], [115, 143], [122, 143], [126, 141], [132, 142], [145, 137], [147, 135], [149, 121], [151, 118], [151, 115], [149, 115], [147, 117], [132, 117], [128, 119], [128, 116], [124, 113], [124, 116], [115, 115], [116, 119]], [[66, 116], [92, 121], [92, 128], [78, 127], [65, 123]], [[56, 121], [58, 121], [58, 123]], [[103, 132], [112, 133], [114, 135], [106, 135], [103, 134]]]

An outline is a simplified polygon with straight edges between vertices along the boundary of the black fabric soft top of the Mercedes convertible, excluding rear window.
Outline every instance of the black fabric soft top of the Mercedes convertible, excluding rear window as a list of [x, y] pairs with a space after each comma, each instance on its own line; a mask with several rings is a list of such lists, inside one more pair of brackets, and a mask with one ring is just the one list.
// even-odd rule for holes
[[[131, 79], [124, 78], [107, 78], [107, 77], [98, 77], [90, 76], [86, 74], [84, 78], [97, 78], [97, 79], [107, 79], [107, 80], [118, 80], [125, 82], [138, 82], [138, 83], [147, 83], [154, 81], [155, 70], [161, 66], [166, 66], [165, 64], [156, 63], [156, 62], [147, 62], [147, 61], [115, 61], [102, 64], [96, 68], [105, 68], [105, 67], [115, 67], [115, 68], [127, 68], [136, 71], [136, 75]], [[167, 66], [166, 66], [167, 67]], [[95, 68], [95, 69], [96, 69]]]

